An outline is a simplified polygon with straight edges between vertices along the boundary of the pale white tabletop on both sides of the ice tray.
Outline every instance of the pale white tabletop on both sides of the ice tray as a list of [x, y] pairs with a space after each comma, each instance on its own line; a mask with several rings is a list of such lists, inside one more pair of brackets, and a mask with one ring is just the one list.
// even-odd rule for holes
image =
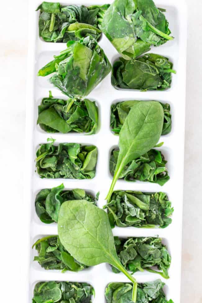
[[[194, 6], [192, 3], [188, 2], [182, 303], [202, 303], [202, 2], [195, 0]], [[1, 301], [6, 298], [10, 301], [11, 295], [16, 302], [21, 302], [21, 293], [24, 291], [20, 283], [20, 257], [23, 229], [26, 228], [23, 226], [26, 213], [23, 212], [22, 193], [25, 85], [29, 77], [26, 70], [29, 35], [27, 11], [27, 0], [3, 2], [0, 18], [0, 271], [5, 284]]]

